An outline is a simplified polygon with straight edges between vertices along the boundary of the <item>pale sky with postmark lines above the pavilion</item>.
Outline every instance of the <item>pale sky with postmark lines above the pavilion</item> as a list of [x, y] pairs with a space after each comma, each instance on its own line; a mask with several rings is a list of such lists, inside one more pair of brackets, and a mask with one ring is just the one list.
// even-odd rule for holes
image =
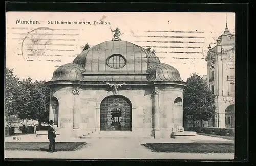
[[[101, 21], [110, 24], [94, 24]], [[110, 29], [118, 27], [122, 40], [152, 47], [160, 61], [178, 69], [186, 81], [192, 73], [207, 74], [207, 47], [216, 45], [226, 22], [235, 33], [234, 13], [8, 12], [6, 67], [20, 79], [49, 81], [54, 70], [72, 62], [86, 43], [112, 40]]]

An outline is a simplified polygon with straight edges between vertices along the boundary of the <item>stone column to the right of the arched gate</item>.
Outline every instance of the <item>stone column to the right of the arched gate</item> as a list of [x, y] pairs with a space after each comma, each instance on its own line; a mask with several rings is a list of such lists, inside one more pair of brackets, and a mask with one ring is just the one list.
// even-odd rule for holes
[[161, 137], [160, 133], [160, 113], [159, 113], [159, 90], [155, 89], [153, 91], [153, 113], [154, 113], [154, 137], [155, 139]]

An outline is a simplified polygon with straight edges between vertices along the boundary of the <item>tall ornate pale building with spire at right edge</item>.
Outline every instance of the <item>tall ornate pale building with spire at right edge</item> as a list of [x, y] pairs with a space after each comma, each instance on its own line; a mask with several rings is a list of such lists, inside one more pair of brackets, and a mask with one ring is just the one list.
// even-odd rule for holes
[[226, 23], [224, 33], [218, 37], [217, 45], [211, 47], [206, 57], [207, 84], [216, 97], [216, 115], [209, 127], [234, 127], [235, 99], [235, 35]]

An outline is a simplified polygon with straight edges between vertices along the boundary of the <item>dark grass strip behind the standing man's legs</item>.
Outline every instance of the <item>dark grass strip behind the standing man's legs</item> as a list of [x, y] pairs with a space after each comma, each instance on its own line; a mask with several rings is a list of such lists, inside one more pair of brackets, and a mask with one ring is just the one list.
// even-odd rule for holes
[[[75, 151], [87, 143], [56, 142], [56, 151]], [[6, 142], [5, 150], [48, 151], [48, 142]]]

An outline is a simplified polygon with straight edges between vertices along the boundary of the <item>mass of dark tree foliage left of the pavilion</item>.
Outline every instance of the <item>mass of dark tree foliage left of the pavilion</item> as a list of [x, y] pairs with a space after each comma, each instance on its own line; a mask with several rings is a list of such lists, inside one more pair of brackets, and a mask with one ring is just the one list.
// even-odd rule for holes
[[50, 89], [45, 81], [19, 80], [13, 69], [6, 68], [5, 112], [20, 119], [49, 120]]

